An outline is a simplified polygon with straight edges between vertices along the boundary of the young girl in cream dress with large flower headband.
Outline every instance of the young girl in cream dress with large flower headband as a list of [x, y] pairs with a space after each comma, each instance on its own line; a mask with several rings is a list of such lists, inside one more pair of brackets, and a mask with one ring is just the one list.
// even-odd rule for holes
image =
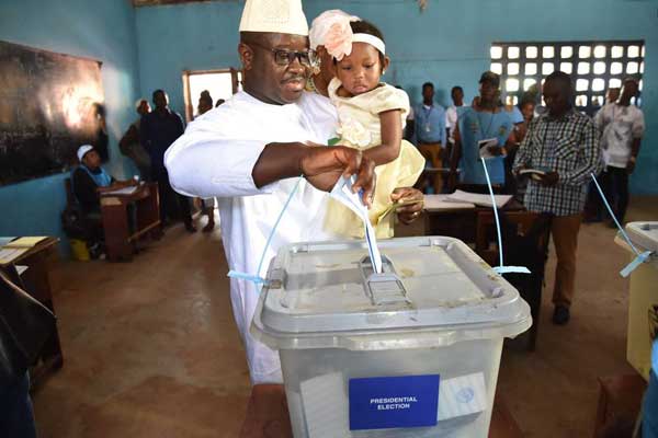
[[[364, 155], [377, 164], [377, 187], [368, 214], [377, 237], [390, 238], [395, 217], [388, 214], [393, 204], [390, 194], [396, 187], [416, 183], [424, 159], [411, 143], [402, 140], [409, 96], [402, 90], [379, 82], [390, 64], [382, 33], [366, 21], [351, 20], [344, 18], [334, 23], [325, 41], [336, 68], [336, 78], [328, 88], [329, 97], [338, 108], [339, 145], [363, 150]], [[355, 215], [333, 200], [329, 205], [326, 229], [344, 237], [364, 235]]]

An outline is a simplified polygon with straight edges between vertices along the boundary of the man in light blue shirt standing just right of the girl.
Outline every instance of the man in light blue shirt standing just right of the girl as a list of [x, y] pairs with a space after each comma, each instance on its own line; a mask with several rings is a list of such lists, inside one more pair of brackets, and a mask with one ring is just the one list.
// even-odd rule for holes
[[[418, 150], [428, 161], [428, 165], [443, 168], [445, 151], [445, 110], [434, 104], [434, 84], [426, 82], [422, 85], [422, 104], [413, 110], [416, 139]], [[441, 173], [436, 173], [433, 184], [434, 193], [441, 193], [443, 180]]]

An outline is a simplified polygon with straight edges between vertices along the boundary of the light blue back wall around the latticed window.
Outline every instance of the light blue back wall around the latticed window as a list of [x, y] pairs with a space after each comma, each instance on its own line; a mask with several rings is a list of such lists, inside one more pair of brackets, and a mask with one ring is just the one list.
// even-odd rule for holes
[[[488, 69], [495, 41], [645, 39], [644, 111], [649, 122], [634, 193], [658, 193], [658, 2], [654, 0], [430, 0], [424, 13], [412, 1], [305, 0], [309, 20], [344, 9], [377, 24], [386, 36], [392, 69], [384, 78], [418, 101], [420, 84], [438, 85], [447, 104], [462, 84], [467, 102]], [[166, 89], [184, 113], [181, 72], [239, 67], [236, 53], [242, 3], [222, 1], [137, 10], [140, 90]]]

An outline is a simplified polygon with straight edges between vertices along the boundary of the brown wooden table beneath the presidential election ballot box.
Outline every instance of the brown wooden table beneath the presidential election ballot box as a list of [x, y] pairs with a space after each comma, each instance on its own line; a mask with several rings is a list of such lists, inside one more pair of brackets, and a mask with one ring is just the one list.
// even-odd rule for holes
[[[521, 429], [503, 401], [494, 402], [489, 438], [520, 438]], [[293, 438], [282, 384], [257, 384], [251, 390], [240, 438]]]

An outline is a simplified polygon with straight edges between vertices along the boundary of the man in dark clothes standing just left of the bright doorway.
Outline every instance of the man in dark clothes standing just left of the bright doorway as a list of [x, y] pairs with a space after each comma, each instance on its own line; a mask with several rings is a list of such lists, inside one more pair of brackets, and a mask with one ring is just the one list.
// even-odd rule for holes
[[141, 145], [148, 151], [151, 159], [151, 180], [158, 182], [160, 194], [160, 220], [167, 223], [172, 211], [177, 211], [189, 232], [195, 232], [190, 212], [190, 199], [177, 194], [169, 183], [169, 174], [164, 168], [164, 151], [185, 130], [183, 119], [178, 113], [169, 110], [169, 97], [163, 90], [154, 91], [154, 104], [156, 110], [141, 118], [139, 136]]

